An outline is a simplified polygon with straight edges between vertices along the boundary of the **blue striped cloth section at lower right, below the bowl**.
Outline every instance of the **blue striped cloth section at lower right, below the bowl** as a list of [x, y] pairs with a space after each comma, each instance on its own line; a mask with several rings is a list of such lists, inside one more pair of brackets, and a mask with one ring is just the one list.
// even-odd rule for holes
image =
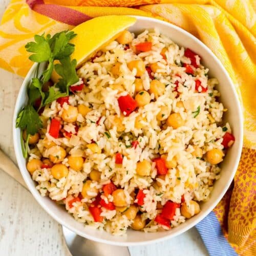
[[237, 256], [223, 236], [221, 225], [213, 211], [196, 225], [210, 256]]

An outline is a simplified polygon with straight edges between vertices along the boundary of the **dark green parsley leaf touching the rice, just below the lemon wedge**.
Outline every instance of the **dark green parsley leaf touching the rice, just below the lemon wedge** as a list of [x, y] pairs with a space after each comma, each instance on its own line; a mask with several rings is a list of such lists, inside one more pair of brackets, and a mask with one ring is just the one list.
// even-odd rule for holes
[[55, 71], [62, 77], [56, 86], [62, 91], [69, 93], [69, 87], [78, 82], [79, 78], [76, 74], [76, 60], [70, 57], [60, 59], [61, 64], [54, 65]]

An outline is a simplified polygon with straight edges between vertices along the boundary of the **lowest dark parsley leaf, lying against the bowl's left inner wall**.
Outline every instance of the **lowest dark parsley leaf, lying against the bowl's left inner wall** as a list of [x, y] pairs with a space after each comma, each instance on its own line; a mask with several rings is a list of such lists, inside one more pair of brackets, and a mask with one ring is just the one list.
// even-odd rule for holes
[[34, 135], [42, 127], [42, 122], [38, 113], [35, 111], [32, 105], [27, 105], [19, 112], [16, 119], [16, 128], [21, 130], [27, 129], [27, 134]]

